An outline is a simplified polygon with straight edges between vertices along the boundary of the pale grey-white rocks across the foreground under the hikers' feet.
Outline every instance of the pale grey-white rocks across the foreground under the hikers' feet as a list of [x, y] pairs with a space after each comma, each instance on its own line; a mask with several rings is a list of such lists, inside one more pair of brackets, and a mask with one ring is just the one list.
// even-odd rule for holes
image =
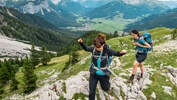
[[[164, 66], [165, 67], [165, 66]], [[147, 100], [147, 97], [142, 92], [143, 89], [148, 89], [148, 85], [152, 84], [150, 77], [153, 75], [153, 71], [156, 71], [151, 66], [145, 66], [146, 73], [142, 79], [138, 79], [137, 76], [140, 75], [140, 70], [135, 76], [133, 84], [128, 84], [127, 79], [123, 78], [123, 76], [129, 76], [126, 73], [120, 73], [118, 76], [112, 78], [111, 82], [111, 92], [110, 94], [102, 91], [98, 84], [98, 94], [97, 97], [101, 100]], [[167, 66], [169, 70], [167, 74], [175, 84], [177, 84], [177, 69]], [[132, 69], [127, 69], [127, 71], [131, 71]], [[21, 95], [13, 95], [9, 98], [11, 99], [29, 99], [29, 100], [58, 100], [61, 96], [66, 98], [67, 100], [71, 100], [75, 94], [83, 93], [88, 95], [89, 87], [88, 87], [88, 71], [80, 72], [78, 75], [72, 76], [67, 80], [59, 80], [55, 83], [49, 84], [47, 83], [45, 86], [37, 89], [35, 92], [31, 93], [27, 96]], [[171, 95], [172, 87], [162, 86], [164, 88], [164, 92]], [[156, 98], [155, 92], [152, 93], [152, 98]], [[7, 98], [6, 98], [7, 99]], [[87, 96], [85, 97], [87, 100]]]

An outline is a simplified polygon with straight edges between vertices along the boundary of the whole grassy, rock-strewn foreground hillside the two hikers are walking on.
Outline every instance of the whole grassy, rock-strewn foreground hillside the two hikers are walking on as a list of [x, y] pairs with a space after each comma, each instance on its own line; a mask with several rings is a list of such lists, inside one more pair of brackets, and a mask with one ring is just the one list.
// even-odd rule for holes
[[[175, 81], [177, 79], [175, 77], [177, 75], [177, 42], [176, 40], [171, 40], [170, 34], [172, 31], [172, 29], [167, 28], [156, 28], [146, 31], [152, 33], [155, 51], [149, 53], [145, 61], [146, 73], [143, 78], [144, 81], [142, 79], [138, 81], [136, 76], [135, 84], [132, 86], [127, 83], [136, 54], [131, 37], [126, 36], [108, 40], [107, 43], [110, 44], [111, 48], [116, 50], [127, 49], [128, 54], [127, 56], [114, 58], [111, 69], [118, 76], [111, 77], [111, 90], [109, 94], [103, 92], [98, 85], [96, 98], [100, 100], [126, 100], [134, 98], [139, 100], [175, 100], [177, 94], [177, 81]], [[81, 61], [63, 72], [61, 71], [69, 60], [68, 55], [52, 59], [49, 67], [37, 68], [35, 73], [38, 76], [39, 88], [25, 97], [38, 100], [50, 98], [60, 100], [87, 99], [90, 53], [85, 51], [79, 51], [78, 53], [80, 54]], [[16, 74], [18, 81], [21, 80], [21, 73], [19, 71]], [[139, 74], [140, 70], [138, 70], [137, 75]], [[140, 89], [141, 87], [143, 90]], [[7, 98], [18, 99], [24, 98], [24, 96], [15, 94], [8, 95]]]

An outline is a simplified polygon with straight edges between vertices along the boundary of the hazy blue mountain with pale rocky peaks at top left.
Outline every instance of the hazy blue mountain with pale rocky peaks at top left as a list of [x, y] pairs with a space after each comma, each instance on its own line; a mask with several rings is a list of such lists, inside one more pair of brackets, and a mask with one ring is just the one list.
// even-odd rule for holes
[[75, 20], [84, 13], [84, 7], [71, 0], [6, 0], [4, 6], [41, 16], [57, 27], [79, 26]]

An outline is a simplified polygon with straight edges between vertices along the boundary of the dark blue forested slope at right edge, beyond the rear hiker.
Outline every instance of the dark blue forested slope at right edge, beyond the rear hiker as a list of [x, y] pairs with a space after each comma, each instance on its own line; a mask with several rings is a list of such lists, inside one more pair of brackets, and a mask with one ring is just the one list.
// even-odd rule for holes
[[140, 21], [127, 25], [125, 31], [131, 29], [147, 30], [155, 27], [175, 28], [177, 26], [177, 9], [172, 9], [166, 13], [151, 15]]

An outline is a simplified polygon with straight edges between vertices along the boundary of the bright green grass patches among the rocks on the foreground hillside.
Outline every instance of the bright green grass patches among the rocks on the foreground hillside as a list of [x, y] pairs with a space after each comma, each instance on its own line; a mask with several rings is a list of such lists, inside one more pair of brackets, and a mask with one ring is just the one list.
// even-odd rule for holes
[[[171, 35], [171, 32], [173, 29], [168, 28], [155, 28], [151, 30], [147, 30], [146, 32], [152, 33], [152, 39], [154, 41], [154, 46], [161, 45], [163, 43], [166, 43], [169, 41], [168, 36]], [[123, 70], [117, 70], [114, 69], [114, 72], [119, 74], [120, 72], [126, 72], [125, 70], [132, 67], [133, 62], [135, 61], [135, 49], [132, 45], [132, 37], [126, 36], [121, 38], [113, 38], [107, 41], [107, 44], [111, 46], [112, 49], [115, 50], [122, 50], [126, 49], [128, 51], [127, 56], [120, 57], [120, 61], [122, 63]], [[81, 71], [88, 71], [90, 66], [90, 55], [91, 53], [85, 52], [83, 50], [78, 51], [80, 55], [80, 59], [85, 59], [85, 62], [83, 64], [76, 63], [68, 70], [62, 71], [64, 68], [65, 63], [69, 60], [69, 56], [65, 55], [58, 58], [53, 58], [48, 66], [42, 66], [38, 65], [35, 69], [35, 73], [38, 77], [38, 87], [42, 87], [45, 84], [45, 80], [47, 80], [50, 76], [53, 75], [53, 73], [59, 73], [58, 78], [55, 80], [65, 80], [69, 78], [72, 75], [77, 75]], [[156, 51], [150, 52], [148, 55], [147, 60], [145, 61], [145, 65], [151, 65], [152, 68], [156, 69], [157, 71], [154, 72], [153, 76], [150, 77], [150, 80], [152, 80], [152, 84], [149, 85], [148, 89], [144, 89], [143, 92], [146, 95], [148, 100], [153, 100], [151, 98], [151, 94], [154, 91], [156, 93], [156, 99], [157, 100], [175, 100], [177, 96], [177, 86], [172, 84], [172, 82], [166, 82], [166, 79], [170, 80], [167, 76], [161, 75], [162, 70], [160, 69], [160, 65], [163, 63], [164, 65], [171, 65], [173, 67], [177, 67], [176, 62], [177, 57], [177, 51], [171, 51], [171, 52], [165, 52], [165, 53], [158, 53]], [[165, 69], [163, 69], [165, 70]], [[42, 73], [45, 72], [45, 73]], [[126, 72], [129, 73], [129, 72]], [[130, 73], [129, 73], [130, 74]], [[23, 74], [21, 73], [21, 70], [16, 74], [16, 78], [19, 82], [21, 82], [21, 77]], [[128, 77], [125, 77], [126, 79]], [[55, 81], [51, 81], [50, 83], [53, 83]], [[172, 87], [172, 95], [168, 95], [163, 92], [162, 86], [170, 86]], [[8, 85], [7, 85], [8, 87]], [[20, 86], [19, 86], [20, 87]], [[20, 90], [15, 91], [15, 93], [18, 93]], [[11, 92], [6, 93], [5, 96], [14, 94]], [[82, 98], [82, 94], [76, 95], [77, 97]]]

